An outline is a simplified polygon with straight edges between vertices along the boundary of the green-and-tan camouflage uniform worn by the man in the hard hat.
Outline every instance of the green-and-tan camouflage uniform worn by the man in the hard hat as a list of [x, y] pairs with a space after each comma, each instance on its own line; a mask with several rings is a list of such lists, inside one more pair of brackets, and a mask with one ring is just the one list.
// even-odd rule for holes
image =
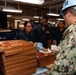
[[74, 75], [76, 72], [76, 22], [64, 32], [59, 52], [48, 75]]

